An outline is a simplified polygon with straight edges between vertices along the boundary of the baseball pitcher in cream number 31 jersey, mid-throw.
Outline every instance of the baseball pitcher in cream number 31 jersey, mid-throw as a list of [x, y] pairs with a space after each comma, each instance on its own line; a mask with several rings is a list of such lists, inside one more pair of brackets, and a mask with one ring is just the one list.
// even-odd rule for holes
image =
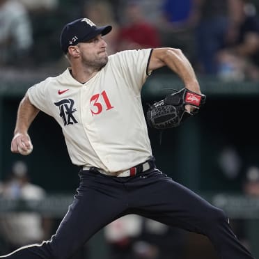
[[222, 210], [155, 165], [141, 88], [153, 70], [167, 66], [178, 74], [185, 88], [155, 104], [148, 115], [156, 128], [178, 126], [205, 101], [191, 64], [171, 47], [107, 56], [103, 36], [110, 31], [111, 26], [97, 27], [87, 18], [66, 24], [60, 44], [70, 68], [31, 86], [19, 104], [12, 152], [31, 152], [29, 127], [39, 111], [47, 113], [62, 127], [80, 183], [50, 240], [0, 258], [70, 258], [111, 221], [139, 214], [207, 236], [221, 259], [252, 259]]

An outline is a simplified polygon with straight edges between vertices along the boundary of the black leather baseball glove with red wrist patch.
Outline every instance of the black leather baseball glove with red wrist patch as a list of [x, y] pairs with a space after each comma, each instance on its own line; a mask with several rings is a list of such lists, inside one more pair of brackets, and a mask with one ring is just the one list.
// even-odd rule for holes
[[[205, 104], [205, 99], [205, 95], [199, 95], [187, 88], [166, 95], [164, 100], [155, 102], [148, 108], [148, 125], [158, 130], [178, 127], [183, 121], [198, 112], [198, 109]], [[191, 104], [196, 109], [189, 113], [185, 110], [186, 104]]]

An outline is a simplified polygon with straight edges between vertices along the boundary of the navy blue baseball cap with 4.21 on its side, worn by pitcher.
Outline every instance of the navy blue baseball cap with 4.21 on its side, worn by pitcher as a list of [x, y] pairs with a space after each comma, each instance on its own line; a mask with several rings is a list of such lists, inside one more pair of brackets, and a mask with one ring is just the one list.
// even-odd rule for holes
[[68, 53], [68, 47], [86, 42], [101, 34], [106, 35], [111, 31], [111, 25], [97, 27], [90, 19], [80, 18], [66, 24], [61, 31], [60, 45], [63, 52]]

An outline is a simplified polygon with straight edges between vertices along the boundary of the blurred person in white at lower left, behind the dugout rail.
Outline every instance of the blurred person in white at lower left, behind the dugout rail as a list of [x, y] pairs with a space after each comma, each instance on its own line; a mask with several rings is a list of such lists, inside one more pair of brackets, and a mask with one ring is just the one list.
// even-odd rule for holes
[[[1, 187], [1, 198], [22, 201], [37, 201], [45, 197], [45, 191], [29, 181], [24, 162], [13, 165], [10, 178]], [[6, 252], [49, 238], [50, 221], [37, 212], [6, 212], [0, 215], [0, 235], [6, 241]]]

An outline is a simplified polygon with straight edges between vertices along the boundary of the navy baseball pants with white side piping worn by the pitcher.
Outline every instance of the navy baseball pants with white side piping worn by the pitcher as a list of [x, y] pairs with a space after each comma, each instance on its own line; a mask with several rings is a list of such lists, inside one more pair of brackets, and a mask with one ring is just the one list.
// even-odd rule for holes
[[79, 177], [77, 195], [52, 239], [0, 258], [70, 258], [98, 230], [125, 214], [203, 234], [221, 259], [253, 258], [235, 237], [222, 210], [156, 168], [126, 178], [81, 170]]

